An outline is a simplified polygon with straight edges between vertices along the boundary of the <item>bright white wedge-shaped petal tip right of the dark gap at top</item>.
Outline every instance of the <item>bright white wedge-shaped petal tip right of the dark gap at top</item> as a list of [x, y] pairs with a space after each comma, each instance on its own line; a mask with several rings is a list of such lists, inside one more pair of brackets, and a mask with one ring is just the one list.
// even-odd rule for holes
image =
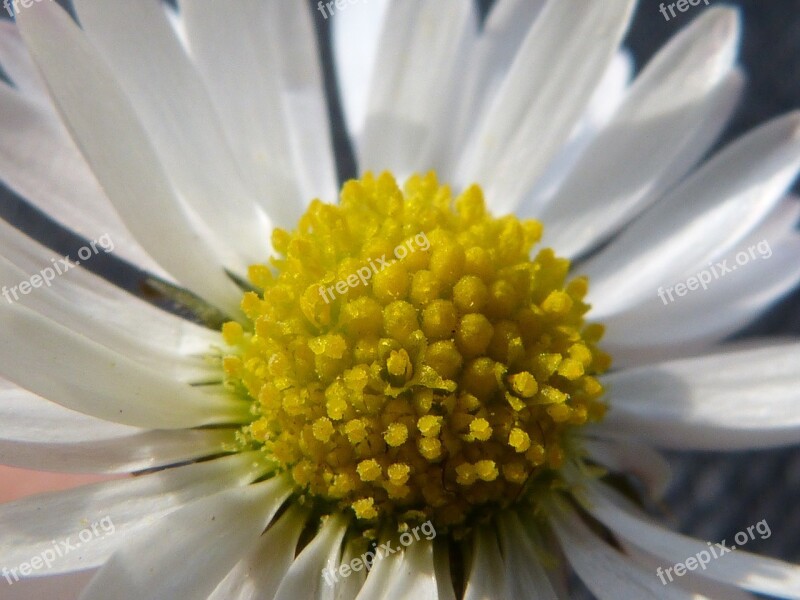
[[[345, 5], [348, 6], [348, 5]], [[323, 17], [330, 14], [323, 5]], [[389, 0], [359, 2], [355, 10], [335, 10], [332, 26], [336, 78], [347, 130], [358, 139], [364, 132], [369, 85]]]

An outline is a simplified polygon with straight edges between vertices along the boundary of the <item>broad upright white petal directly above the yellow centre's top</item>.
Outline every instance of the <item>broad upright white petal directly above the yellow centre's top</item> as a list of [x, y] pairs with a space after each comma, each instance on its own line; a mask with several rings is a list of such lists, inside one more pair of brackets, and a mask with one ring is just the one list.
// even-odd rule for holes
[[[404, 179], [443, 166], [456, 75], [476, 28], [474, 5], [408, 0], [384, 23], [369, 94], [360, 171], [391, 169]], [[438, 159], [438, 160], [437, 160]]]

